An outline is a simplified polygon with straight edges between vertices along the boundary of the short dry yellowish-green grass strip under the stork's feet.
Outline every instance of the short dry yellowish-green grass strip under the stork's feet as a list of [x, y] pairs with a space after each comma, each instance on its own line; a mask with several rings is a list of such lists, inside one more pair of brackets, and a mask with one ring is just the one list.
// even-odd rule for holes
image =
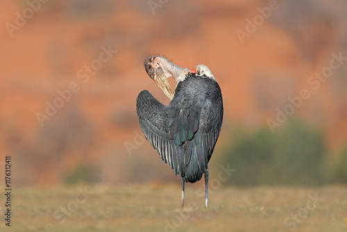
[[[347, 231], [346, 187], [217, 188], [210, 192], [206, 210], [204, 197], [196, 196], [203, 188], [200, 182], [186, 185], [185, 210], [180, 209], [179, 185], [88, 185], [93, 193], [84, 202], [79, 196], [80, 203], [76, 194], [82, 184], [15, 188], [12, 226], [4, 226], [2, 219], [0, 231]], [[310, 200], [308, 194], [318, 194], [323, 201], [295, 222], [290, 217], [305, 213], [301, 208]], [[61, 216], [61, 207], [68, 205], [73, 212], [64, 222], [53, 217], [56, 212]], [[287, 217], [289, 226], [284, 224]], [[45, 229], [47, 225], [52, 227]]]

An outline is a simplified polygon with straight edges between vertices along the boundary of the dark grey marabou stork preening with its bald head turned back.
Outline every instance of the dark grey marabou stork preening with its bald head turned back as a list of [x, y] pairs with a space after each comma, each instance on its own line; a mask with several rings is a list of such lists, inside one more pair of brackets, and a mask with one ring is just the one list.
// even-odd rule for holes
[[[196, 70], [183, 69], [167, 58], [151, 56], [144, 60], [147, 74], [171, 99], [164, 106], [143, 90], [137, 97], [137, 116], [142, 132], [164, 163], [182, 178], [182, 201], [185, 182], [200, 181], [205, 174], [205, 206], [208, 208], [208, 161], [212, 156], [223, 120], [221, 89], [205, 65]], [[177, 82], [173, 96], [167, 78]]]

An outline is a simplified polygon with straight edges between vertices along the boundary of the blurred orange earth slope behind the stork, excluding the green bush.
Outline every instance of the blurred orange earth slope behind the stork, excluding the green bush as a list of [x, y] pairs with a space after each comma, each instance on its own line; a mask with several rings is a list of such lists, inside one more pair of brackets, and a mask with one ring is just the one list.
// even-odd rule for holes
[[[28, 2], [40, 9], [11, 27]], [[332, 53], [347, 56], [346, 1], [278, 1], [242, 40], [237, 30], [246, 31], [246, 19], [253, 22], [269, 1], [28, 2], [1, 0], [0, 14], [0, 162], [12, 157], [16, 185], [64, 183], [83, 167], [97, 183], [177, 181], [142, 138], [136, 115], [144, 89], [169, 103], [144, 70], [144, 58], [155, 54], [211, 69], [225, 108], [217, 147], [230, 142], [233, 126], [269, 129], [276, 109], [303, 89], [310, 98], [289, 118], [323, 131], [327, 156], [346, 146], [347, 64], [317, 90], [307, 82], [330, 65]], [[84, 83], [78, 72], [99, 59], [102, 47], [117, 53]], [[78, 91], [42, 126], [37, 113], [72, 82]]]

